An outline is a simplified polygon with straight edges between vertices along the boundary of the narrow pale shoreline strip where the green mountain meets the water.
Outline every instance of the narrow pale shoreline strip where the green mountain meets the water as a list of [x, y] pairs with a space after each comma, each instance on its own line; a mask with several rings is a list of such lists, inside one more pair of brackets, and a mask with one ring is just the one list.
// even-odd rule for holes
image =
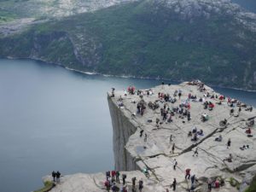
[[[55, 66], [60, 66], [63, 67], [69, 71], [77, 72], [77, 73], [83, 73], [87, 75], [102, 75], [103, 77], [113, 77], [113, 78], [122, 78], [122, 79], [148, 79], [148, 80], [166, 80], [166, 81], [172, 81], [177, 84], [182, 83], [183, 81], [188, 81], [188, 80], [172, 80], [172, 79], [162, 79], [162, 78], [149, 78], [149, 77], [137, 77], [137, 76], [132, 76], [132, 75], [113, 75], [113, 74], [104, 74], [104, 73], [96, 73], [96, 72], [88, 72], [88, 71], [81, 71], [78, 69], [66, 67], [61, 63], [55, 63], [55, 62], [50, 62], [50, 61], [44, 61], [43, 59], [38, 59], [38, 58], [31, 58], [31, 57], [24, 57], [24, 58], [17, 58], [17, 57], [12, 57], [12, 56], [7, 56], [7, 57], [0, 57], [0, 59], [8, 59], [8, 60], [32, 60], [32, 61], [40, 61], [44, 62], [44, 64], [50, 64], [50, 65], [55, 65]], [[230, 90], [242, 90], [246, 92], [256, 92], [256, 90], [246, 90], [246, 89], [241, 89], [241, 88], [236, 88], [236, 87], [230, 87], [230, 86], [222, 86], [222, 85], [215, 85], [215, 84], [208, 84], [209, 86], [213, 88], [224, 88], [224, 89], [230, 89]]]

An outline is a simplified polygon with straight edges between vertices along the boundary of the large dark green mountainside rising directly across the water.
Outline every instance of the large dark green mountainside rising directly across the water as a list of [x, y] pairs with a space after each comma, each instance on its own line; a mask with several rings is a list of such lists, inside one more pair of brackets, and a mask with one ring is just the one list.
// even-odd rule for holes
[[256, 90], [256, 15], [229, 0], [141, 0], [32, 25], [0, 56]]

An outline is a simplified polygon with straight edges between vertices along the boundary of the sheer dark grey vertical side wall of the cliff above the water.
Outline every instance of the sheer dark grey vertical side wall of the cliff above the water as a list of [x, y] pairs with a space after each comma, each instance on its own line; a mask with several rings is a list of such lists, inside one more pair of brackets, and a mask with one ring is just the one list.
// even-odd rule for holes
[[131, 157], [131, 154], [125, 149], [125, 144], [128, 142], [129, 137], [137, 131], [137, 126], [133, 124], [131, 119], [125, 117], [122, 109], [113, 102], [109, 95], [108, 106], [113, 126], [113, 154], [115, 170], [136, 170], [136, 162]]

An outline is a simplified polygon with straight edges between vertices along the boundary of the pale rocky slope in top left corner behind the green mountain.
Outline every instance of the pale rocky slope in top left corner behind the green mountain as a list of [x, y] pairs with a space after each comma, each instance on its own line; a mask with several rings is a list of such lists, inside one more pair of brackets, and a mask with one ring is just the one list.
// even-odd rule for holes
[[0, 16], [13, 19], [61, 18], [132, 1], [135, 0], [0, 0]]

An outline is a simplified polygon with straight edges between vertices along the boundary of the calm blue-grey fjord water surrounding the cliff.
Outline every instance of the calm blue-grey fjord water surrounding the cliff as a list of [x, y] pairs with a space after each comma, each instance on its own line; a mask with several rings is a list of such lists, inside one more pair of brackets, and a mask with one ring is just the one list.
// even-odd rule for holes
[[[42, 186], [51, 171], [113, 168], [107, 91], [157, 80], [75, 73], [38, 61], [0, 60], [0, 183], [4, 192]], [[256, 106], [256, 93], [216, 88]]]

